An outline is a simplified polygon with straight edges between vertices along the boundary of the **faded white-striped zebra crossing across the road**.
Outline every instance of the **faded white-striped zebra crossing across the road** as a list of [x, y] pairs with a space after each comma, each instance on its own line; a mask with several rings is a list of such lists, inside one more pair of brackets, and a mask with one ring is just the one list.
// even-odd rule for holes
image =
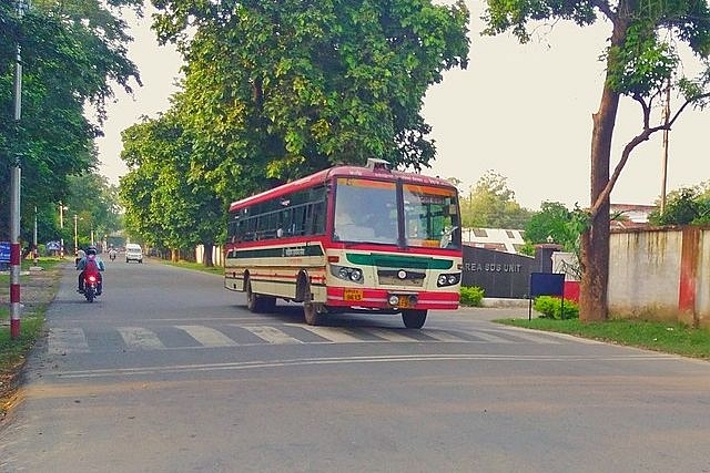
[[[206, 325], [173, 325], [170, 330], [180, 332], [183, 342], [175, 345], [164, 328], [113, 327], [116, 340], [124, 350], [166, 350], [178, 348], [226, 348], [254, 345], [297, 343], [560, 343], [561, 339], [548, 333], [519, 330], [404, 330], [382, 327], [325, 327], [300, 323], [253, 325], [226, 323], [221, 327]], [[186, 339], [184, 337], [187, 337]], [[49, 354], [90, 353], [101, 351], [105, 331], [87, 332], [83, 328], [51, 328], [48, 336]], [[168, 342], [168, 339], [173, 340]]]

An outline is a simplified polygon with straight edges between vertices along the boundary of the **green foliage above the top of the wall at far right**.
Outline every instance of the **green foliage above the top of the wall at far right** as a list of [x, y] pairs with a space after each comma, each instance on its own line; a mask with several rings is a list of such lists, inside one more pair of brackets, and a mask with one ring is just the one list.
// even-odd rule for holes
[[666, 209], [651, 212], [652, 225], [706, 225], [710, 224], [710, 182], [696, 187], [684, 187], [670, 193]]

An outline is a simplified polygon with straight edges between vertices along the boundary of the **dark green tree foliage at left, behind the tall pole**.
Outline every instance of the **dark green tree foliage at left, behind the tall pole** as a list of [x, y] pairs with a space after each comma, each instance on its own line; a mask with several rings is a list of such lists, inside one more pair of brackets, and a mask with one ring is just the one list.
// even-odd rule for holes
[[[101, 134], [112, 84], [131, 91], [140, 79], [128, 60], [126, 24], [105, 2], [33, 0], [20, 20], [0, 2], [0, 157], [22, 167], [22, 237], [34, 213], [53, 215], [67, 202], [68, 176], [98, 165], [93, 138]], [[139, 0], [112, 0], [112, 8], [139, 9]], [[7, 30], [6, 30], [7, 27]], [[6, 34], [6, 31], [8, 34]], [[22, 51], [22, 116], [13, 123], [17, 45]], [[94, 113], [97, 122], [85, 116]], [[9, 166], [0, 166], [0, 188], [10, 187]], [[9, 225], [9, 194], [0, 194], [0, 238]]]

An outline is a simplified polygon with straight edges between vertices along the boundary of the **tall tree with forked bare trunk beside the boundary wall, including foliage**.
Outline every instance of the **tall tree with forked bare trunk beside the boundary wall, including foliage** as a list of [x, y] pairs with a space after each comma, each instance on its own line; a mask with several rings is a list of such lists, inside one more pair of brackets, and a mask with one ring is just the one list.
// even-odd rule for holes
[[[525, 43], [530, 29], [539, 21], [571, 20], [580, 27], [608, 20], [611, 27], [609, 45], [604, 52], [606, 78], [599, 110], [592, 115], [590, 150], [590, 203], [587, 228], [581, 238], [582, 279], [580, 285], [580, 319], [605, 320], [608, 313], [607, 286], [609, 275], [610, 199], [613, 186], [631, 152], [659, 131], [671, 130], [688, 106], [702, 109], [710, 99], [710, 11], [708, 2], [669, 0], [632, 2], [618, 0], [487, 0], [484, 17], [485, 33], [511, 30]], [[702, 70], [697, 78], [684, 76], [679, 53], [686, 43]], [[651, 112], [668, 86], [682, 96], [674, 112], [651, 125]], [[621, 96], [640, 106], [642, 124], [629, 141], [610, 173], [611, 140]]]

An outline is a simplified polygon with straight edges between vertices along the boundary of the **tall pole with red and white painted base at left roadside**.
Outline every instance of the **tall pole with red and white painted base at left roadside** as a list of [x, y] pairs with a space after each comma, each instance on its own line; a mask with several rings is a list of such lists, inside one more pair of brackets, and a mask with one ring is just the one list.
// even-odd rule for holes
[[[24, 0], [17, 1], [18, 18], [22, 20], [28, 6]], [[20, 119], [22, 116], [22, 54], [21, 47], [17, 47], [17, 62], [14, 66], [14, 138], [17, 141], [14, 156], [10, 160], [10, 338], [20, 337]]]

